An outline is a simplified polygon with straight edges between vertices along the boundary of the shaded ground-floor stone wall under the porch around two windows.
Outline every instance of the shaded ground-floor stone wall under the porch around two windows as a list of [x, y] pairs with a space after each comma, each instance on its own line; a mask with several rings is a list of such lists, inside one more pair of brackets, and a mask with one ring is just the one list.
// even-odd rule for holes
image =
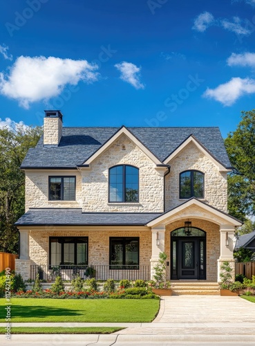
[[88, 264], [109, 264], [109, 237], [140, 237], [140, 265], [150, 266], [151, 229], [147, 227], [76, 227], [46, 226], [30, 232], [32, 264], [48, 265], [49, 237], [88, 237]]

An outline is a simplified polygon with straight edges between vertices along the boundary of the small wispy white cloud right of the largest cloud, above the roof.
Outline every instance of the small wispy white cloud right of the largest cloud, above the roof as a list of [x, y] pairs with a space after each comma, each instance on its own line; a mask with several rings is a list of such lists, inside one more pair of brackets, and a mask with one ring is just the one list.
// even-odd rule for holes
[[144, 84], [140, 82], [141, 67], [132, 64], [131, 62], [121, 62], [114, 65], [121, 73], [120, 79], [130, 83], [135, 89], [144, 89]]

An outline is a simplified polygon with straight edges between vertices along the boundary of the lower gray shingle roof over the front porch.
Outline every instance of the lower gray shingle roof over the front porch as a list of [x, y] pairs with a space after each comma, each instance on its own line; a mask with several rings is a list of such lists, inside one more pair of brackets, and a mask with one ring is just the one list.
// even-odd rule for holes
[[82, 212], [82, 209], [30, 209], [15, 226], [144, 226], [158, 213]]

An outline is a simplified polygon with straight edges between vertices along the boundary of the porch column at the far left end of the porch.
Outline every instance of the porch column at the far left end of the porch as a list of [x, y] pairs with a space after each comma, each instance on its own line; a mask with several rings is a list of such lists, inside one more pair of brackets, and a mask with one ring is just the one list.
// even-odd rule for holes
[[15, 260], [15, 273], [23, 280], [30, 279], [29, 230], [19, 230], [19, 259]]

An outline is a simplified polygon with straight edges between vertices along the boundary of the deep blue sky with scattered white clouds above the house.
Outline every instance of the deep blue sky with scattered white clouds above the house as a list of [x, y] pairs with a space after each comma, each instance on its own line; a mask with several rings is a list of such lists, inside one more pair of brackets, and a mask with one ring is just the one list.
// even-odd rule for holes
[[61, 109], [225, 137], [255, 108], [255, 0], [10, 0], [0, 25], [0, 126]]

